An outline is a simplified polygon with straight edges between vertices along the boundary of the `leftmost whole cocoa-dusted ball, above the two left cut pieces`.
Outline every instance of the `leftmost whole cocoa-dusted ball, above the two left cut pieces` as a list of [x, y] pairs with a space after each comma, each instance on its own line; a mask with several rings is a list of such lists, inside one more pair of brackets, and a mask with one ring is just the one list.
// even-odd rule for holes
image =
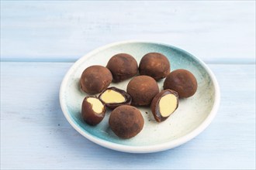
[[111, 72], [104, 66], [89, 66], [81, 74], [81, 89], [85, 93], [96, 94], [102, 92], [112, 82]]

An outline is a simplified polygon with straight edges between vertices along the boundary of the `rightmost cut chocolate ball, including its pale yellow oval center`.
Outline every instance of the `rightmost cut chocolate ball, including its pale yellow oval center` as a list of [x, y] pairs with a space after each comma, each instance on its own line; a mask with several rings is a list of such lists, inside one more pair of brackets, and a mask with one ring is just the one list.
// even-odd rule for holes
[[178, 108], [178, 93], [174, 90], [161, 91], [152, 100], [150, 108], [156, 121], [165, 121]]

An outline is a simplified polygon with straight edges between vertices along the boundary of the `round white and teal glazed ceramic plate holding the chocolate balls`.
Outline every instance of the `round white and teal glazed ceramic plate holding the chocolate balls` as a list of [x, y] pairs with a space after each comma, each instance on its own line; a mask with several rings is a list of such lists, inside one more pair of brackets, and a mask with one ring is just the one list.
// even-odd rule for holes
[[[117, 53], [129, 53], [139, 64], [142, 56], [150, 52], [167, 56], [171, 71], [186, 69], [192, 72], [198, 82], [196, 93], [192, 97], [181, 99], [178, 109], [161, 123], [154, 120], [149, 107], [138, 107], [144, 117], [144, 128], [130, 139], [118, 138], [109, 128], [111, 110], [107, 110], [106, 117], [98, 125], [92, 127], [85, 124], [81, 119], [81, 103], [88, 95], [81, 90], [79, 84], [83, 70], [92, 65], [106, 66], [111, 56]], [[130, 80], [111, 83], [109, 87], [126, 90]], [[160, 90], [163, 90], [164, 79], [157, 83]], [[205, 130], [219, 108], [220, 87], [206, 63], [183, 49], [159, 42], [115, 42], [93, 50], [71, 66], [61, 83], [60, 103], [67, 121], [88, 140], [116, 151], [150, 153], [175, 148]]]

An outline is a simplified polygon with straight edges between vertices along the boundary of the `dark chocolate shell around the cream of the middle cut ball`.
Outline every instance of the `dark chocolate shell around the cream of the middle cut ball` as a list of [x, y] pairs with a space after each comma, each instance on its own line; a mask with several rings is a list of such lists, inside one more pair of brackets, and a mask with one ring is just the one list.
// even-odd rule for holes
[[[126, 99], [124, 102], [122, 103], [106, 103], [101, 99], [102, 93], [104, 93], [106, 90], [114, 90], [120, 94], [123, 95], [123, 97]], [[103, 90], [102, 93], [99, 94], [99, 100], [102, 101], [103, 104], [106, 105], [106, 107], [108, 107], [109, 109], [115, 109], [116, 107], [122, 106], [122, 105], [130, 105], [132, 102], [132, 98], [130, 97], [130, 95], [128, 93], [126, 93], [125, 90], [121, 90], [118, 89], [116, 87], [109, 87], [106, 90]]]

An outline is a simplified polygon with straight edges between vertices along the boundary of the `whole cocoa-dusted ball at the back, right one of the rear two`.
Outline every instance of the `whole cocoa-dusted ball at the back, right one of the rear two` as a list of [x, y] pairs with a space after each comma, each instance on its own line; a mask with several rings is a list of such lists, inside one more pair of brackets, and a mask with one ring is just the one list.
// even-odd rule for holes
[[171, 66], [168, 58], [161, 53], [147, 53], [140, 60], [140, 75], [147, 75], [154, 80], [161, 80], [170, 73]]

